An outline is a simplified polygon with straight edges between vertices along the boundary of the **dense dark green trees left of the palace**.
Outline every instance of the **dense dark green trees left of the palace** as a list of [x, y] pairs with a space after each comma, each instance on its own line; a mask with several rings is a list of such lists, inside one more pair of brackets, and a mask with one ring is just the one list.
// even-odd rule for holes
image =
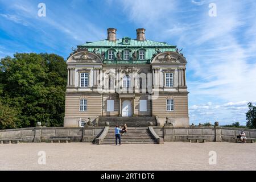
[[16, 53], [0, 61], [0, 129], [63, 126], [67, 64], [47, 53]]

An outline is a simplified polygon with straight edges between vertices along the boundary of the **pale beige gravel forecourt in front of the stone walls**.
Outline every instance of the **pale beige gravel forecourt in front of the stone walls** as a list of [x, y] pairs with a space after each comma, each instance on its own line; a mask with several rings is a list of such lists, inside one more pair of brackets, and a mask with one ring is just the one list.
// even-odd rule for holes
[[[39, 151], [46, 164], [38, 164]], [[209, 164], [209, 152], [217, 164]], [[256, 143], [0, 144], [0, 170], [256, 170]]]

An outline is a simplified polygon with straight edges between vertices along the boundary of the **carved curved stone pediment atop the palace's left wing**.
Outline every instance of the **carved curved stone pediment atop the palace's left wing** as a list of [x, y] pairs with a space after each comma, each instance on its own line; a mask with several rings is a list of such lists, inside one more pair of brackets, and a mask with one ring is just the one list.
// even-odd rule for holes
[[70, 56], [67, 63], [102, 63], [100, 57], [93, 52], [81, 51]]

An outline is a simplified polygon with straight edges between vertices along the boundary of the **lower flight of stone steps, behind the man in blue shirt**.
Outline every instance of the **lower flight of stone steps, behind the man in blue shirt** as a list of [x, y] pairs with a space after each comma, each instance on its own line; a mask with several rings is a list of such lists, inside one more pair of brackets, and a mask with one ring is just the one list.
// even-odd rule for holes
[[[129, 125], [128, 125], [129, 126]], [[115, 144], [115, 127], [109, 127], [109, 132], [101, 142], [101, 144]], [[128, 127], [127, 133], [121, 135], [122, 144], [130, 143], [156, 143], [156, 140], [151, 135], [147, 127]], [[119, 144], [119, 140], [117, 140]]]

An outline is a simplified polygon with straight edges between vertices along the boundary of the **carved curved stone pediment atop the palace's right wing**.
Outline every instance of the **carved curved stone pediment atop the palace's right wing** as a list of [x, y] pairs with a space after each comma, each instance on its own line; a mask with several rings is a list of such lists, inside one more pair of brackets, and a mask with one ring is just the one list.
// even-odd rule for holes
[[185, 57], [177, 52], [160, 52], [151, 63], [187, 63]]

